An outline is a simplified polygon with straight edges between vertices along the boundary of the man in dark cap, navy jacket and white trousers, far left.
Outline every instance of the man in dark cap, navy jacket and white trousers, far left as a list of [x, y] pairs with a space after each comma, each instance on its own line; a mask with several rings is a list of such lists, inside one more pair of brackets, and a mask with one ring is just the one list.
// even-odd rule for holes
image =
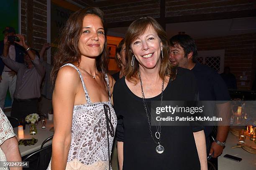
[[[15, 29], [13, 27], [6, 27], [3, 30], [4, 38], [12, 39], [15, 34]], [[0, 55], [3, 53], [4, 48], [4, 41], [0, 41]], [[16, 61], [18, 63], [24, 63], [23, 53], [25, 52], [24, 48], [14, 42], [10, 43], [9, 46], [9, 56], [10, 59]], [[9, 88], [10, 97], [13, 101], [13, 94], [15, 91], [16, 86], [16, 72], [10, 69], [8, 66], [5, 65], [3, 60], [0, 58], [0, 107], [4, 110], [5, 105], [5, 96], [7, 90]]]

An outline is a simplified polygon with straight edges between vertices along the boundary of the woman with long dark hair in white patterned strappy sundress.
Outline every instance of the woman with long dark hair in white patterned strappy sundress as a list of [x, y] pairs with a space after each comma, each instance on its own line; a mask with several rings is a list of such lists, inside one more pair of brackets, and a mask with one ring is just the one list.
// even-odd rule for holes
[[73, 13], [55, 56], [54, 137], [50, 170], [109, 170], [117, 118], [115, 81], [107, 74], [107, 43], [99, 8]]

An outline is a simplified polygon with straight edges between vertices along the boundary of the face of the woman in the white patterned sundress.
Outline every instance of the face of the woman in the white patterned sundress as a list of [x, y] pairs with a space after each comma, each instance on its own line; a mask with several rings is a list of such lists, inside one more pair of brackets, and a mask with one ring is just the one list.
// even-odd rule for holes
[[84, 17], [82, 34], [78, 48], [82, 56], [96, 58], [100, 56], [105, 45], [103, 23], [100, 17], [88, 14]]

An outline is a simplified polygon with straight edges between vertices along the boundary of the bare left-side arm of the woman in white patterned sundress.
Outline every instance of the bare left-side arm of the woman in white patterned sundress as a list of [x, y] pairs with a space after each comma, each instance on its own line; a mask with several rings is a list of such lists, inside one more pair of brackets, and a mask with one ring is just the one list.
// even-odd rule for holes
[[[69, 77], [69, 81], [67, 81]], [[51, 170], [65, 170], [71, 143], [72, 115], [79, 77], [65, 66], [59, 70], [53, 92], [54, 137], [52, 141]]]

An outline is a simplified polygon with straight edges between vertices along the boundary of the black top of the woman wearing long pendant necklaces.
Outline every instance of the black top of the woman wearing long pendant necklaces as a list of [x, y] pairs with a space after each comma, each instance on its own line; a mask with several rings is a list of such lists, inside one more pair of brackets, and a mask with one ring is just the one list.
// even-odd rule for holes
[[[177, 78], [164, 89], [163, 101], [195, 100], [196, 89], [192, 71], [179, 68]], [[131, 92], [124, 77], [115, 83], [113, 101], [118, 117], [117, 140], [123, 142], [123, 170], [200, 170], [193, 132], [203, 127], [162, 126], [164, 153], [158, 154], [142, 98]], [[161, 94], [146, 99], [149, 108], [151, 101], [161, 101]], [[154, 135], [156, 127], [151, 129]]]

